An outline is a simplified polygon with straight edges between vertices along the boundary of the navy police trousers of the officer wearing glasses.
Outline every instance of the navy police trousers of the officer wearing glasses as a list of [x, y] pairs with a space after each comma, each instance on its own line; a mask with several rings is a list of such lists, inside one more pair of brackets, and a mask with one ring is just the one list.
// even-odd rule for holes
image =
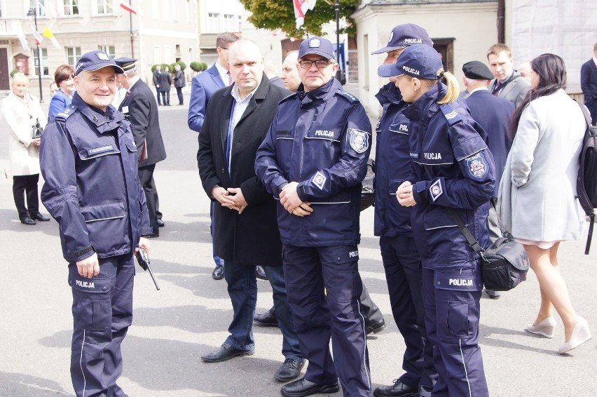
[[294, 328], [309, 361], [305, 379], [331, 384], [339, 377], [344, 396], [371, 396], [357, 246], [284, 244], [282, 257]]

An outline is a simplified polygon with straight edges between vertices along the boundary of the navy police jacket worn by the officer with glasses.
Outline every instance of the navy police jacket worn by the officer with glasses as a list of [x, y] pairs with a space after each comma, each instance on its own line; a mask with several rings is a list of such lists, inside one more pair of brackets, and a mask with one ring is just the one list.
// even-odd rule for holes
[[280, 101], [257, 151], [256, 175], [275, 198], [289, 182], [313, 213], [298, 217], [277, 206], [280, 236], [297, 246], [359, 243], [361, 182], [371, 150], [371, 123], [357, 98], [336, 79]]

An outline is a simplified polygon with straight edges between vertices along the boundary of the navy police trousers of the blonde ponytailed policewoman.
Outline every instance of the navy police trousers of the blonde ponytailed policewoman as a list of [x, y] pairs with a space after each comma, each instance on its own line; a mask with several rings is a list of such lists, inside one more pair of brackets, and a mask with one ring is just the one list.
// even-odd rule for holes
[[425, 325], [439, 379], [434, 397], [488, 397], [479, 347], [483, 281], [473, 269], [423, 269]]

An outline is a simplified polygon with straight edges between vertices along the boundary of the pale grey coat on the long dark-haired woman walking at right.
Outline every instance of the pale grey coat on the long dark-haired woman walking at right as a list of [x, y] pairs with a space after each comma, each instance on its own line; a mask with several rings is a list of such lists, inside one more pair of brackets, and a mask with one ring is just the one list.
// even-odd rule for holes
[[497, 203], [514, 237], [582, 237], [585, 217], [576, 198], [576, 178], [585, 129], [580, 107], [564, 90], [537, 98], [523, 110]]

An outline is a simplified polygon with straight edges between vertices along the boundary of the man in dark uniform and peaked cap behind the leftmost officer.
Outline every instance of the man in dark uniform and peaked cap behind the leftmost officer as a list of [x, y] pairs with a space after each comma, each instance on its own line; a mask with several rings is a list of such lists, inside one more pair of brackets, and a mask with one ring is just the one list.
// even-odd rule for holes
[[116, 64], [123, 68], [124, 74], [118, 74], [118, 82], [127, 89], [125, 99], [118, 110], [130, 121], [132, 135], [137, 144], [139, 157], [139, 181], [145, 191], [149, 224], [153, 228], [151, 237], [160, 235], [156, 217], [157, 191], [153, 184], [153, 170], [156, 163], [166, 158], [166, 149], [162, 140], [158, 104], [151, 88], [139, 79], [139, 69], [132, 58], [116, 58]]

